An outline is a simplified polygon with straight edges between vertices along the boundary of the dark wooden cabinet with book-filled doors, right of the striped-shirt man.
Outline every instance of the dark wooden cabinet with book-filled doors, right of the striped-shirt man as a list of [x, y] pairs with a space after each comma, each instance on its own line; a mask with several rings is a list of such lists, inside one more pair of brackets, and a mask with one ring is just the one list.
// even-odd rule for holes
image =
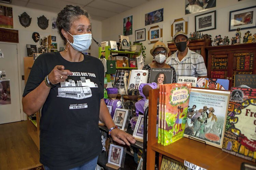
[[234, 86], [235, 74], [256, 74], [256, 43], [207, 47], [208, 78], [228, 79]]

